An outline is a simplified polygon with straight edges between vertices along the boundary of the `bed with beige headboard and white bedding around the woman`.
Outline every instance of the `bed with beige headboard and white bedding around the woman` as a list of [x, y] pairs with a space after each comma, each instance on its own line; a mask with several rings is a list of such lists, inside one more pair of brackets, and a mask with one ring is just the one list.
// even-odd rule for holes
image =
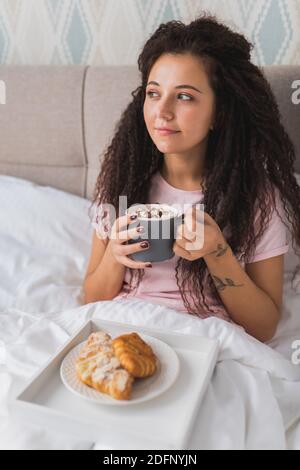
[[[269, 66], [265, 73], [300, 173], [300, 104], [291, 99], [300, 67]], [[9, 408], [11, 397], [87, 319], [100, 318], [218, 339], [189, 449], [300, 449], [300, 275], [292, 285], [292, 247], [285, 255], [282, 320], [267, 345], [223, 320], [200, 321], [138, 299], [83, 305], [98, 156], [138, 86], [137, 71], [1, 66], [0, 79], [7, 89], [0, 105], [0, 448], [123, 448], [117, 439], [108, 447], [101, 436], [89, 442], [25, 424]]]

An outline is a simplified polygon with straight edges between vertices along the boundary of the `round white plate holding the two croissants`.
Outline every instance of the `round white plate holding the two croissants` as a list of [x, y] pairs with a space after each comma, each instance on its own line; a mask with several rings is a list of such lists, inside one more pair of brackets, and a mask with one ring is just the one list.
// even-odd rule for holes
[[135, 379], [130, 400], [116, 400], [109, 395], [88, 387], [77, 378], [75, 361], [85, 341], [73, 348], [61, 364], [60, 376], [64, 385], [75, 395], [101, 405], [134, 405], [161, 395], [173, 385], [178, 376], [178, 356], [174, 349], [163, 341], [144, 334], [140, 334], [140, 336], [151, 346], [158, 358], [159, 364], [157, 371], [151, 377]]

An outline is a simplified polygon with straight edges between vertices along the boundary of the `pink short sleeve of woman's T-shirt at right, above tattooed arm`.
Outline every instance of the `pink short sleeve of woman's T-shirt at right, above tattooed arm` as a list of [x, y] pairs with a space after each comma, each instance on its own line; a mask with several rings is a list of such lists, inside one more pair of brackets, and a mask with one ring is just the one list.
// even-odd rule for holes
[[[282, 221], [286, 220], [286, 217], [277, 189], [275, 189], [275, 204], [276, 208], [272, 211], [271, 219], [267, 224], [262, 238], [257, 243], [253, 256], [245, 260], [245, 263], [255, 263], [256, 261], [272, 258], [273, 256], [279, 256], [288, 252], [288, 232]], [[258, 212], [258, 216], [259, 214], [260, 211]], [[255, 230], [259, 228], [258, 216], [255, 219]]]

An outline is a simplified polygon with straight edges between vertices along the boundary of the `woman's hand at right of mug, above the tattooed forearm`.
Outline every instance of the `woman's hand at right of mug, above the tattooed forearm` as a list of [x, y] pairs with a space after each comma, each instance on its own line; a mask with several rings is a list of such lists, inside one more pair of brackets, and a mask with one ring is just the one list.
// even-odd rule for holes
[[213, 254], [220, 256], [226, 246], [218, 224], [196, 207], [189, 208], [184, 214], [184, 223], [179, 225], [175, 238], [175, 255], [189, 261]]

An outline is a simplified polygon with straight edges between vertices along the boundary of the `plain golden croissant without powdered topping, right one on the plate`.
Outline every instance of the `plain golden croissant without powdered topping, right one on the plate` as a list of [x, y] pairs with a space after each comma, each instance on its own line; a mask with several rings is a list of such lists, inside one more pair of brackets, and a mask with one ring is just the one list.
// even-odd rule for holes
[[121, 365], [133, 377], [150, 377], [156, 371], [156, 356], [137, 333], [118, 336], [112, 346]]

